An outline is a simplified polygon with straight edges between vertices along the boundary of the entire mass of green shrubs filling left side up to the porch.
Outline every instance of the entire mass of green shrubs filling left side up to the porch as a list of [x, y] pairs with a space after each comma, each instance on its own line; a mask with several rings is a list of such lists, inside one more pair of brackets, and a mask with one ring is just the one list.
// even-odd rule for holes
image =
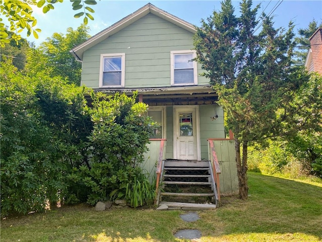
[[2, 216], [41, 211], [48, 202], [94, 205], [116, 189], [133, 206], [153, 200], [141, 164], [155, 125], [147, 105], [135, 103], [137, 93], [92, 91], [90, 108], [85, 87], [30, 77], [10, 62], [1, 68]]

